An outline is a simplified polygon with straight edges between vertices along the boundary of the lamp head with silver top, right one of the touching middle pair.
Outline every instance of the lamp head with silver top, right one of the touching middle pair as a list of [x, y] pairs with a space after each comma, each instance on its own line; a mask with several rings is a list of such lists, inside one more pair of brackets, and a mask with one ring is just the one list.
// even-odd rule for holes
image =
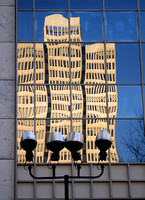
[[65, 147], [71, 151], [74, 161], [81, 160], [79, 150], [83, 148], [84, 138], [80, 132], [70, 132], [65, 139]]

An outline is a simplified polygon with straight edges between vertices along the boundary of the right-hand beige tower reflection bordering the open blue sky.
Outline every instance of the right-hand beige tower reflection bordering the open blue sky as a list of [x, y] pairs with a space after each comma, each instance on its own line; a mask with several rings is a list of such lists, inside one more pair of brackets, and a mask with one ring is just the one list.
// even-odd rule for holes
[[[106, 44], [107, 55], [107, 82], [116, 83], [116, 56], [115, 44]], [[86, 85], [86, 116], [89, 118], [106, 118], [106, 75], [104, 64], [104, 44], [96, 43], [85, 46], [85, 83], [97, 84]], [[101, 85], [104, 84], [104, 85]], [[109, 117], [114, 118], [117, 114], [117, 88], [108, 86], [108, 112]], [[118, 162], [118, 155], [115, 145], [115, 120], [110, 120], [110, 134], [112, 147], [110, 149], [111, 162]], [[98, 132], [107, 129], [107, 121], [87, 120], [86, 121], [86, 157], [87, 162], [98, 162], [99, 151], [95, 149], [95, 138]], [[108, 159], [108, 156], [107, 156]]]

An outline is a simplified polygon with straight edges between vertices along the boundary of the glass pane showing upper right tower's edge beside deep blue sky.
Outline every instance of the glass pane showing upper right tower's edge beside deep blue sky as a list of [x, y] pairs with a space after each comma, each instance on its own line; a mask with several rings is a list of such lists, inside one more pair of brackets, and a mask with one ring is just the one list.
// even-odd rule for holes
[[107, 73], [112, 74], [111, 80], [114, 80], [114, 83], [141, 83], [139, 45], [117, 43], [107, 45], [114, 46], [114, 52], [113, 49], [111, 52], [107, 50]]

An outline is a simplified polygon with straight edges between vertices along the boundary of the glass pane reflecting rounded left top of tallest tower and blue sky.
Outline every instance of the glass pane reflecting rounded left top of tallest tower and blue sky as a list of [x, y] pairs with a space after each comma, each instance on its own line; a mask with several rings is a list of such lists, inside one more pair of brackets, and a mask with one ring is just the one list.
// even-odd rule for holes
[[68, 41], [67, 12], [36, 12], [36, 41], [56, 42]]

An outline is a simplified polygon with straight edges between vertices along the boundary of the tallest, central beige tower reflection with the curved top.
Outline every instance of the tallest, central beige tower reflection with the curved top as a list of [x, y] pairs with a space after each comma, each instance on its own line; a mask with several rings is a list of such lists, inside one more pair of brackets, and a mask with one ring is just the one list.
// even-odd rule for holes
[[[70, 39], [72, 42], [81, 41], [80, 19], [70, 18]], [[80, 83], [82, 73], [82, 49], [81, 45], [71, 44], [71, 77], [69, 63], [69, 30], [68, 19], [60, 14], [54, 14], [45, 18], [44, 41], [48, 51], [48, 83], [57, 84], [50, 86], [51, 94], [51, 118], [59, 118], [50, 121], [50, 131], [59, 131], [64, 138], [71, 131], [71, 105], [72, 117], [82, 118], [83, 94], [81, 86], [72, 86], [71, 83]], [[68, 118], [63, 120], [61, 118]], [[82, 132], [82, 120], [72, 121], [72, 131]], [[60, 162], [71, 162], [70, 152], [63, 149], [60, 152]], [[50, 156], [50, 155], [49, 155]], [[48, 156], [48, 161], [50, 157]]]

